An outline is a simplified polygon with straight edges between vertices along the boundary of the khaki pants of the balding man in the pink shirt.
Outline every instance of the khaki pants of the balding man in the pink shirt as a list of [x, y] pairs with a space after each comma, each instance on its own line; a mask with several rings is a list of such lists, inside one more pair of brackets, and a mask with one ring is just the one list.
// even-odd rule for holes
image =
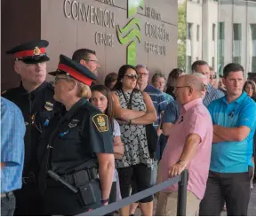
[[[156, 205], [156, 216], [176, 216], [177, 215], [178, 191], [171, 193], [160, 192]], [[191, 191], [187, 191], [187, 209], [186, 215], [196, 216], [199, 212], [201, 200], [196, 198]]]

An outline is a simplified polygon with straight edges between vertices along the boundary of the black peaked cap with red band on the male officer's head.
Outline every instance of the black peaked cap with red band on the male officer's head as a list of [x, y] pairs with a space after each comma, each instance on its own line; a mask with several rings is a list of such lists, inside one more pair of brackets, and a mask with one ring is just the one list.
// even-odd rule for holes
[[49, 61], [50, 58], [46, 55], [45, 48], [48, 46], [48, 41], [37, 40], [29, 43], [22, 43], [11, 50], [7, 54], [13, 54], [15, 60], [22, 60], [26, 64], [36, 64]]

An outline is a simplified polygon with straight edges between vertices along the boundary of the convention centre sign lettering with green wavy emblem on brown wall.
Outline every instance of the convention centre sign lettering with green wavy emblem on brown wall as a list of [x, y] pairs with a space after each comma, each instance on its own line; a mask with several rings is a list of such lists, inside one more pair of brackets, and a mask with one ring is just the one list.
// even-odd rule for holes
[[[141, 43], [145, 52], [165, 56], [166, 43], [171, 43], [171, 33], [164, 27], [163, 14], [156, 8], [146, 5], [145, 0], [127, 0], [126, 12], [118, 12], [117, 15], [117, 1], [63, 0], [63, 12], [67, 19], [105, 27], [104, 32], [92, 33], [95, 44], [109, 48], [114, 48], [116, 43], [124, 45], [127, 64], [136, 65], [138, 44]], [[104, 4], [104, 7], [90, 4], [93, 2]], [[120, 14], [126, 19], [121, 19]], [[108, 29], [115, 29], [115, 34]]]

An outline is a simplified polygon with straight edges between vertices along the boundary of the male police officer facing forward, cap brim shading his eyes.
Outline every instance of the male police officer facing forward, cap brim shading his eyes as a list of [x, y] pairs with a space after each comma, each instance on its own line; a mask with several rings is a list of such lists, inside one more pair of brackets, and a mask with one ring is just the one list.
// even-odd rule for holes
[[20, 107], [23, 114], [25, 135], [25, 162], [22, 174], [22, 189], [16, 190], [16, 210], [14, 215], [40, 215], [41, 198], [37, 186], [38, 166], [36, 146], [45, 126], [53, 116], [53, 88], [45, 81], [46, 55], [48, 46], [45, 40], [23, 43], [7, 54], [14, 58], [14, 69], [20, 74], [20, 86], [8, 89], [3, 97]]

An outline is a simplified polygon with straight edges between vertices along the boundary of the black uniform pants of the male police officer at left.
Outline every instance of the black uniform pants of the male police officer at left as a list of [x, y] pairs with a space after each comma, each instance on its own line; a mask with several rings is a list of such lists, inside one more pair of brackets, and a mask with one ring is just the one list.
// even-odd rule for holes
[[42, 196], [36, 184], [22, 184], [22, 189], [15, 190], [16, 198], [15, 216], [40, 216]]

